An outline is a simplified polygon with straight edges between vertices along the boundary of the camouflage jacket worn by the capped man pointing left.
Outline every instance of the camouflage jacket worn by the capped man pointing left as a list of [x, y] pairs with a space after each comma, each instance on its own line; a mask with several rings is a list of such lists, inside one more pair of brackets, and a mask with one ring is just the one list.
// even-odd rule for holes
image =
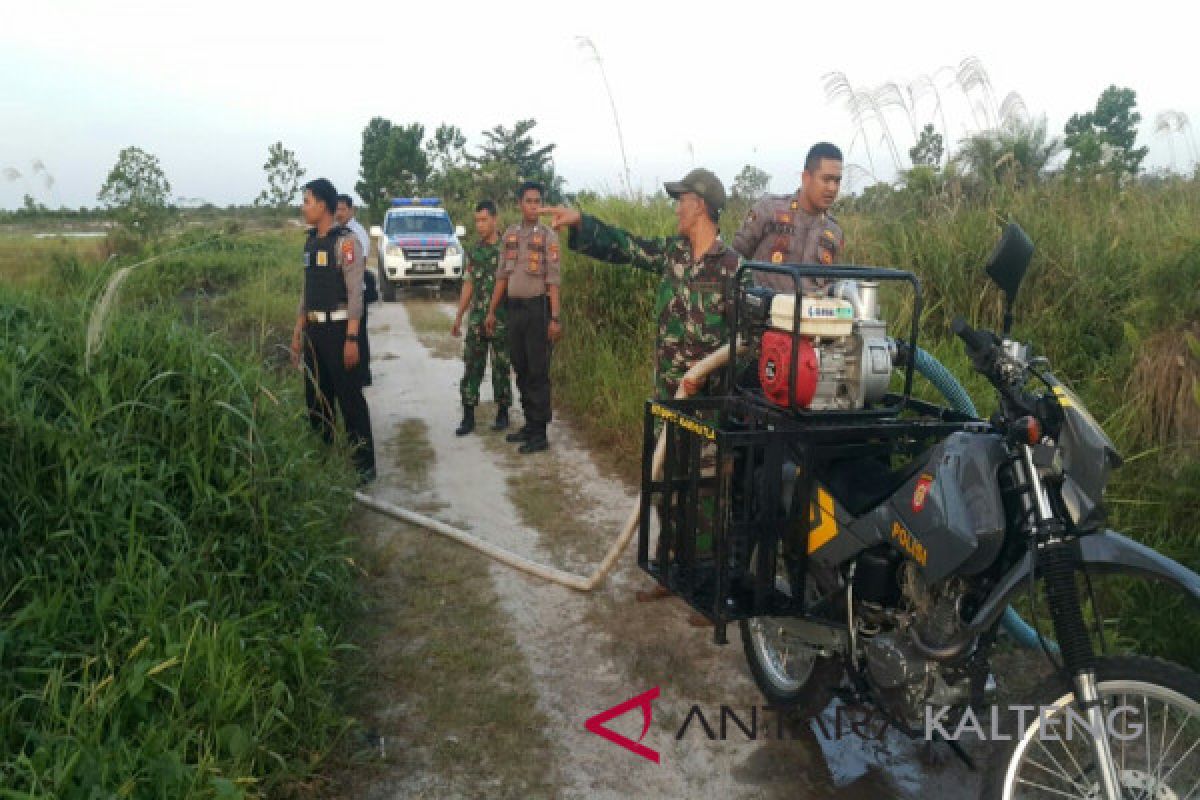
[[[726, 300], [740, 258], [718, 239], [697, 261], [683, 236], [642, 239], [583, 215], [568, 246], [601, 261], [629, 264], [662, 277], [654, 302], [658, 341], [654, 395], [674, 397], [688, 369], [728, 344]], [[714, 386], [710, 379], [708, 386]]]

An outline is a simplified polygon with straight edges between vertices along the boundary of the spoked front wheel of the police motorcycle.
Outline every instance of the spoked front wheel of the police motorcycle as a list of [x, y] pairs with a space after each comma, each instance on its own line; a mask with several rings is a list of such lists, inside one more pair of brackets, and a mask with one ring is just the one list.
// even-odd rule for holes
[[[1144, 656], [1097, 660], [1097, 690], [1104, 705], [1104, 735], [1122, 800], [1184, 800], [1200, 796], [1200, 675]], [[1104, 798], [1091, 736], [1074, 694], [1061, 678], [1004, 715], [1010, 740], [989, 759], [988, 800]]]

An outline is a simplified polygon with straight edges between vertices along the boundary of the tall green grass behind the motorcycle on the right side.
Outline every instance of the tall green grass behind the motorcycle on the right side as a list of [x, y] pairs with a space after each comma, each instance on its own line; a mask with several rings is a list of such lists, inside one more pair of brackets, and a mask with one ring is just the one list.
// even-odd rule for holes
[[[838, 215], [847, 260], [922, 278], [923, 345], [964, 380], [982, 410], [992, 407], [991, 392], [971, 374], [949, 320], [962, 314], [998, 327], [1001, 299], [983, 264], [1003, 223], [1016, 221], [1030, 233], [1037, 252], [1018, 301], [1016, 336], [1051, 359], [1130, 457], [1110, 487], [1114, 527], [1200, 569], [1200, 431], [1188, 421], [1168, 437], [1147, 423], [1200, 374], [1200, 360], [1160, 344], [1200, 325], [1200, 182], [1118, 191], [1048, 181], [976, 198], [900, 190], [847, 205]], [[661, 198], [642, 205], [605, 199], [584, 210], [642, 235], [674, 227]], [[726, 241], [740, 218], [737, 209], [725, 215]], [[641, 404], [652, 390], [655, 284], [652, 276], [565, 255], [556, 397], [626, 459], [640, 447]], [[1158, 384], [1135, 379], [1166, 373], [1178, 378], [1159, 381], [1175, 392], [1169, 398], [1157, 396]], [[1123, 636], [1200, 664], [1194, 610], [1181, 613], [1187, 607], [1144, 584], [1120, 584], [1108, 600]]]

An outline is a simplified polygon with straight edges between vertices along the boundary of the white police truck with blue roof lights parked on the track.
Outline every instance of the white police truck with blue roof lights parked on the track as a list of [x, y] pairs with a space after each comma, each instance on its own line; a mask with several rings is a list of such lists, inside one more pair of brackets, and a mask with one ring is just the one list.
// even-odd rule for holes
[[395, 198], [383, 224], [371, 228], [383, 300], [395, 300], [398, 287], [461, 283], [466, 255], [460, 239], [466, 235], [462, 225], [451, 224], [438, 198]]

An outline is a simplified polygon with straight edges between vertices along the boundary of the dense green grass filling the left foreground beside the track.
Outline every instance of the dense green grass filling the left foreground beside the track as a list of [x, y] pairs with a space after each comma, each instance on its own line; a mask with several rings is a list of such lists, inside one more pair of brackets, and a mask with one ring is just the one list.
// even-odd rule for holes
[[[233, 247], [229, 275], [282, 269]], [[344, 453], [245, 349], [268, 337], [126, 297], [88, 373], [85, 293], [42, 289], [0, 289], [0, 795], [298, 789], [347, 726]], [[252, 329], [277, 324], [254, 302]]]

